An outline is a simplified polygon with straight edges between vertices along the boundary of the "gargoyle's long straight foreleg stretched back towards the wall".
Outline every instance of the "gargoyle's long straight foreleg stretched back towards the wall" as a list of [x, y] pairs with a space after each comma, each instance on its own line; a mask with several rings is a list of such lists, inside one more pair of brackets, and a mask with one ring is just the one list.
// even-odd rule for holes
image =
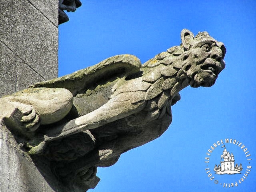
[[48, 142], [85, 130], [98, 128], [139, 112], [146, 106], [144, 98], [145, 92], [143, 91], [120, 93], [100, 108], [50, 130], [45, 134], [44, 141], [38, 146], [32, 147], [29, 153], [40, 154]]

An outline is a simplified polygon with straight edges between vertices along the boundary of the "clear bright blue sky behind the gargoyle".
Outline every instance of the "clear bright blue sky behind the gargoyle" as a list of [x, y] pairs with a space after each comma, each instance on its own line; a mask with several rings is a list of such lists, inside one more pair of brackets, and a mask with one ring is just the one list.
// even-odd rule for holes
[[[122, 154], [93, 192], [252, 191], [256, 189], [256, 2], [254, 0], [174, 1], [81, 0], [70, 21], [59, 26], [59, 76], [97, 64], [117, 54], [133, 54], [144, 63], [179, 45], [180, 32], [207, 31], [224, 42], [226, 68], [210, 88], [187, 87], [172, 106], [173, 120], [158, 139]], [[216, 175], [224, 148], [206, 152], [232, 138], [248, 148], [226, 144], [242, 174]], [[225, 144], [225, 143], [224, 143]], [[251, 156], [246, 157], [250, 154]], [[251, 158], [252, 160], [247, 160]], [[249, 164], [250, 162], [250, 164]], [[208, 165], [208, 166], [207, 166]], [[241, 181], [247, 166], [247, 179]], [[210, 168], [210, 172], [206, 173]], [[248, 171], [247, 171], [248, 172]], [[208, 174], [212, 173], [213, 180]], [[218, 184], [214, 184], [218, 180]], [[241, 183], [239, 183], [239, 180]], [[223, 183], [238, 183], [224, 188]], [[222, 185], [220, 185], [222, 183]]]

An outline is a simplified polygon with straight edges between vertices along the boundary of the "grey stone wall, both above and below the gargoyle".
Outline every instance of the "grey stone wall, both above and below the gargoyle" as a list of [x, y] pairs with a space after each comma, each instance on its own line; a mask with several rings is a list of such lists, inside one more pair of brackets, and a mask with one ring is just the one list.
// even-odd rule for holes
[[[56, 78], [58, 0], [4, 0], [0, 18], [0, 97]], [[50, 170], [38, 169], [35, 161], [0, 122], [0, 191], [62, 191]], [[38, 162], [48, 167], [43, 159]]]

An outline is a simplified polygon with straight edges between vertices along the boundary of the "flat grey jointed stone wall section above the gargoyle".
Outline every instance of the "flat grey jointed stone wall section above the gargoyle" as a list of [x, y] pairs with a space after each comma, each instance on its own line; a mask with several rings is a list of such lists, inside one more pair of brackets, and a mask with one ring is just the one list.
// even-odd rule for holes
[[0, 96], [58, 76], [58, 0], [0, 3]]

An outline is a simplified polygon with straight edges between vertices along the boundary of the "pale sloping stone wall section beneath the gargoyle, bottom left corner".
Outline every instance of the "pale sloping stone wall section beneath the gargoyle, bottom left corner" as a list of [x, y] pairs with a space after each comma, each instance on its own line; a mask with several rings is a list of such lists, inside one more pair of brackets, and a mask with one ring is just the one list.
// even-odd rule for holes
[[46, 168], [42, 176], [30, 156], [18, 148], [16, 140], [3, 124], [0, 124], [0, 175], [2, 192], [54, 192], [62, 189], [54, 178], [51, 178], [49, 186]]

